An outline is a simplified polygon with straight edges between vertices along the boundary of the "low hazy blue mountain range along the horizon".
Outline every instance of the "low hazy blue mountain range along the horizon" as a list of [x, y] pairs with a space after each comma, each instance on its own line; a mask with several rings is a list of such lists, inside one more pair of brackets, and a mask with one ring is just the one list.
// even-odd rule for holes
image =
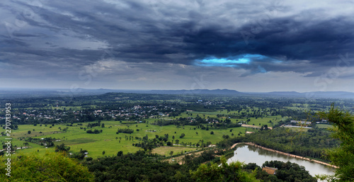
[[299, 93], [296, 91], [273, 92], [240, 92], [229, 89], [195, 89], [195, 90], [121, 90], [121, 89], [0, 89], [0, 98], [33, 97], [33, 96], [87, 96], [109, 92], [120, 93], [150, 93], [150, 94], [210, 94], [223, 96], [269, 96], [292, 98], [354, 98], [353, 92], [348, 91], [313, 91]]

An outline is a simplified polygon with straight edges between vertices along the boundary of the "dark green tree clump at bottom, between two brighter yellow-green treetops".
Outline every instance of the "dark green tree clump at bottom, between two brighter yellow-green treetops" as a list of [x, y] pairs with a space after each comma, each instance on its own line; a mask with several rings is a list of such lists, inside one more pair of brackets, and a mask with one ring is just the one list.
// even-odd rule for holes
[[103, 157], [86, 161], [89, 171], [96, 181], [193, 181], [189, 170], [199, 164], [214, 159], [213, 152], [205, 152], [200, 157], [189, 156], [184, 165], [160, 161], [155, 154], [139, 151], [135, 154], [120, 154], [117, 157]]

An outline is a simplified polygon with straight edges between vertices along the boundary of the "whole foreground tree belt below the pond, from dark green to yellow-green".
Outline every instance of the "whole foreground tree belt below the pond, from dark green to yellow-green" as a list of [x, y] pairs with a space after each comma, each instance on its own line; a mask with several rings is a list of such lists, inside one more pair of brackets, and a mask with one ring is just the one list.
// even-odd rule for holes
[[93, 159], [84, 164], [95, 174], [96, 181], [316, 181], [303, 166], [295, 163], [265, 162], [263, 166], [278, 168], [273, 176], [261, 171], [256, 164], [227, 164], [224, 157], [221, 165], [214, 162], [203, 164], [215, 160], [219, 161], [219, 158], [215, 158], [215, 152], [211, 150], [199, 157], [185, 156], [183, 165], [169, 164], [155, 154], [139, 151]]

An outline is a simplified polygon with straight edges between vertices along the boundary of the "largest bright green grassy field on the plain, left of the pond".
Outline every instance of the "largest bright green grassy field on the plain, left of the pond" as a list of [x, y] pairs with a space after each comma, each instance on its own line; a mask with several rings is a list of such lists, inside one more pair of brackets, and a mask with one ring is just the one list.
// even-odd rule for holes
[[[197, 143], [200, 140], [204, 142], [212, 142], [215, 144], [222, 140], [222, 135], [232, 136], [238, 135], [239, 132], [242, 132], [242, 135], [246, 132], [244, 127], [234, 127], [228, 128], [227, 130], [194, 130], [195, 126], [185, 125], [183, 127], [177, 128], [175, 125], [167, 126], [157, 126], [149, 125], [146, 123], [137, 123], [135, 125], [122, 125], [118, 121], [103, 121], [105, 127], [93, 127], [92, 130], [98, 129], [103, 130], [99, 134], [89, 134], [85, 130], [80, 129], [80, 127], [86, 127], [88, 123], [82, 123], [83, 125], [67, 126], [67, 125], [18, 125], [18, 130], [12, 130], [11, 137], [13, 137], [12, 144], [16, 147], [24, 147], [25, 141], [18, 140], [20, 137], [35, 137], [35, 138], [44, 138], [44, 137], [55, 137], [59, 142], [55, 142], [55, 145], [64, 143], [69, 146], [72, 152], [79, 152], [80, 149], [86, 149], [89, 152], [89, 157], [101, 157], [103, 156], [103, 151], [105, 155], [115, 155], [118, 151], [124, 153], [127, 152], [136, 152], [140, 147], [133, 147], [133, 143], [139, 142], [135, 140], [135, 137], [144, 137], [148, 136], [149, 138], [154, 138], [155, 135], [163, 136], [164, 134], [169, 134], [169, 141], [172, 141], [172, 137], [175, 137], [175, 140], [180, 140], [181, 142], [192, 142]], [[116, 134], [118, 128], [129, 128], [135, 130], [132, 134], [120, 133]], [[63, 132], [59, 129], [67, 128], [66, 132]], [[136, 131], [138, 129], [139, 131]], [[232, 129], [232, 132], [229, 130]], [[156, 130], [156, 132], [150, 132], [150, 130]], [[247, 129], [251, 130], [251, 129]], [[30, 134], [28, 134], [30, 131]], [[210, 135], [210, 132], [213, 131], [214, 135]], [[41, 133], [40, 133], [41, 132]], [[198, 135], [197, 133], [198, 132]], [[179, 138], [181, 134], [184, 133], [185, 137], [182, 139]], [[125, 136], [132, 136], [132, 140], [126, 140]], [[0, 142], [5, 142], [5, 137], [0, 137]], [[50, 150], [54, 151], [54, 147], [45, 148], [39, 144], [29, 143], [28, 149], [18, 149], [16, 153], [28, 153], [28, 152], [38, 152], [39, 154], [45, 154], [45, 151]], [[176, 147], [179, 148], [179, 147]], [[195, 148], [194, 148], [195, 149]], [[176, 152], [179, 152], [180, 149], [176, 149]], [[184, 149], [185, 150], [185, 149]], [[171, 152], [171, 150], [169, 151]]]

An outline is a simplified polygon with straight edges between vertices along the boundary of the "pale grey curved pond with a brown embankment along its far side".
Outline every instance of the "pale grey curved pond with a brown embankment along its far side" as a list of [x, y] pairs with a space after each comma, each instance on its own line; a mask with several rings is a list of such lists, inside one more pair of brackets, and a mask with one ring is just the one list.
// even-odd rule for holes
[[244, 161], [245, 164], [256, 163], [258, 166], [262, 166], [265, 161], [290, 161], [300, 166], [304, 166], [309, 174], [312, 176], [316, 174], [334, 174], [336, 169], [325, 166], [323, 164], [317, 164], [312, 161], [306, 161], [303, 159], [297, 159], [294, 157], [289, 157], [285, 154], [278, 154], [272, 151], [261, 149], [258, 147], [253, 147], [249, 144], [239, 144], [234, 152], [234, 157], [227, 160], [227, 163], [232, 161]]

